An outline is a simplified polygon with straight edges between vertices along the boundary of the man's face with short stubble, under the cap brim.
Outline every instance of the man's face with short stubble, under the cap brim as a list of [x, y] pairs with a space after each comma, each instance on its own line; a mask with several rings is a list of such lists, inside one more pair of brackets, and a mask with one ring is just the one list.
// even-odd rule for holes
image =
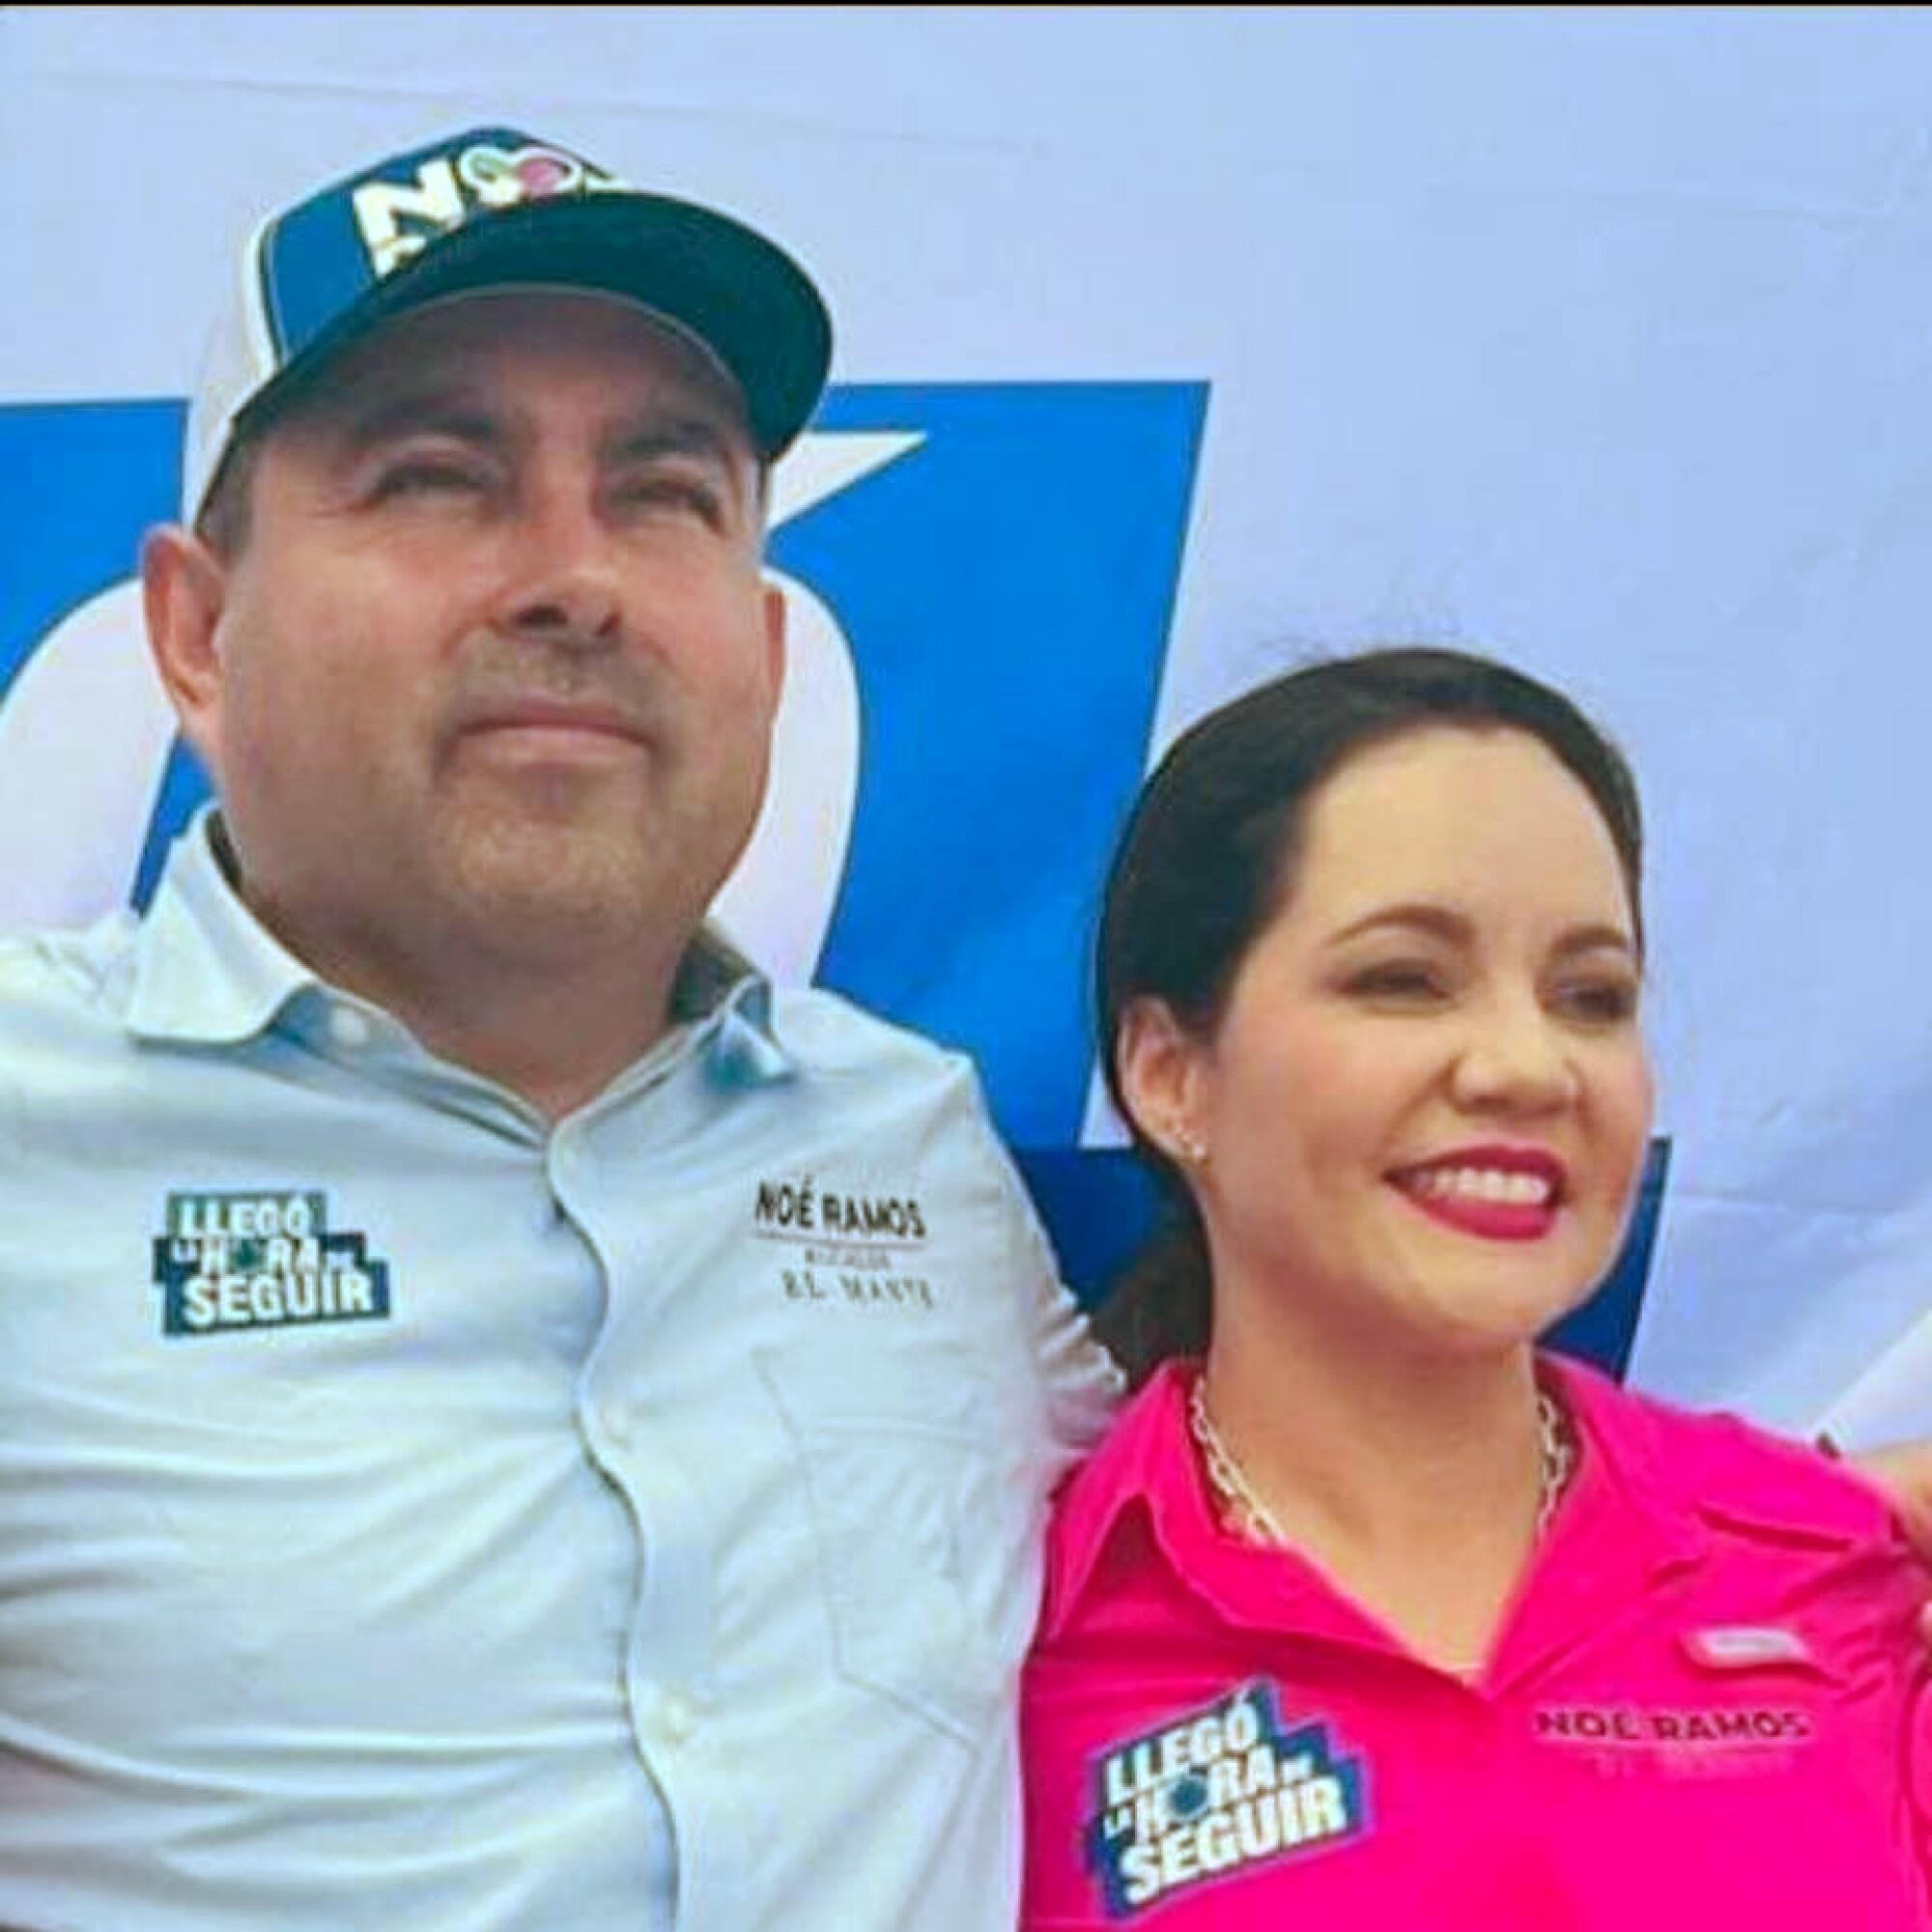
[[325, 970], [688, 931], [765, 786], [761, 535], [736, 396], [624, 303], [477, 296], [346, 352], [170, 678], [251, 904]]

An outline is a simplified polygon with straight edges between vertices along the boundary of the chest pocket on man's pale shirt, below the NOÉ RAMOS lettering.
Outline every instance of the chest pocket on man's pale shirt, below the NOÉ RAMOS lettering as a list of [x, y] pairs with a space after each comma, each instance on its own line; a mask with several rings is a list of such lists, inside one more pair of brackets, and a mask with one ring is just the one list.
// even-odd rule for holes
[[952, 1358], [755, 1360], [804, 1470], [840, 1673], [978, 1745], [1020, 1662], [972, 1609], [972, 1567], [999, 1561], [968, 1509], [991, 1484], [987, 1383]]

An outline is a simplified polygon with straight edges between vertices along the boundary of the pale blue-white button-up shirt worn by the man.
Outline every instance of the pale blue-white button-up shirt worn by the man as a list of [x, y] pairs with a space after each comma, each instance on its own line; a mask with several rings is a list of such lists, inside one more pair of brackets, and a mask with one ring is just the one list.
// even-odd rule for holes
[[0, 1924], [1007, 1932], [1113, 1393], [960, 1057], [742, 978], [551, 1126], [203, 821], [0, 947]]

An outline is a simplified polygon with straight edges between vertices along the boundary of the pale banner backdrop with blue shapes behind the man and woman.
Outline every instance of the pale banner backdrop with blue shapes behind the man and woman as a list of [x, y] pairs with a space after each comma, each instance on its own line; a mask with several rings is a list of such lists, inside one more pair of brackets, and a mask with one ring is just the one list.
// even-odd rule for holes
[[126, 898], [180, 802], [116, 585], [238, 238], [527, 128], [833, 305], [777, 549], [815, 858], [736, 887], [786, 970], [1072, 1142], [1150, 752], [1310, 647], [1495, 649], [1654, 829], [1634, 1378], [1932, 1430], [1928, 102], [1907, 12], [4, 10], [0, 923]]

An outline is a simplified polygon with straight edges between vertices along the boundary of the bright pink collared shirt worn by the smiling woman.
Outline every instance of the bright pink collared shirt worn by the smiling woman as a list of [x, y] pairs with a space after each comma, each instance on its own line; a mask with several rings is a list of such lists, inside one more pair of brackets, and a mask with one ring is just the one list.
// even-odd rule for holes
[[1924, 1580], [1882, 1499], [1546, 1366], [1582, 1455], [1474, 1683], [1219, 1528], [1192, 1368], [1134, 1399], [1053, 1522], [1026, 1928], [1932, 1926]]

